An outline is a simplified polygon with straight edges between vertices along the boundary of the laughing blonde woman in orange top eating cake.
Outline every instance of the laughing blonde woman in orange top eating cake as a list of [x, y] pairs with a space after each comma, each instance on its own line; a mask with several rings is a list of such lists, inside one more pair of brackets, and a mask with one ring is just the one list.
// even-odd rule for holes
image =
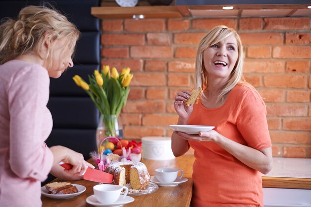
[[261, 173], [272, 168], [266, 106], [244, 81], [242, 66], [238, 34], [217, 26], [198, 47], [195, 86], [203, 88], [201, 100], [186, 106], [188, 90], [175, 96], [177, 124], [215, 126], [198, 135], [172, 135], [175, 156], [194, 149], [193, 207], [263, 207]]

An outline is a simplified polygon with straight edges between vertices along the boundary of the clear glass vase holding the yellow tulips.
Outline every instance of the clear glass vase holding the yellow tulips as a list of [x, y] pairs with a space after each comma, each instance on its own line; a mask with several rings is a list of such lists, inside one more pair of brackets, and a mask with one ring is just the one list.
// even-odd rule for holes
[[[96, 142], [98, 152], [100, 152], [100, 143], [106, 137], [118, 137], [123, 139], [123, 126], [120, 117], [116, 115], [100, 115], [96, 132]], [[105, 140], [108, 142], [108, 139]], [[102, 145], [104, 145], [103, 143]]]

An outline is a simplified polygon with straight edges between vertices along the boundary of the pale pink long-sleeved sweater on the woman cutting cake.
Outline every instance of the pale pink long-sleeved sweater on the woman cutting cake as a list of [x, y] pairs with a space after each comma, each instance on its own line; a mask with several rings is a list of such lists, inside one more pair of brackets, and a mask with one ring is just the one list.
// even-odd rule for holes
[[44, 142], [53, 125], [49, 84], [37, 64], [0, 65], [0, 207], [42, 206], [41, 181], [53, 163]]

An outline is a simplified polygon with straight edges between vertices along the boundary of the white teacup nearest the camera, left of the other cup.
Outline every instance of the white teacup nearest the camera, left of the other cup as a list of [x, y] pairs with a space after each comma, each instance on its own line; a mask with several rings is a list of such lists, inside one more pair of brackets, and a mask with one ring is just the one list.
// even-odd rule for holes
[[122, 198], [125, 198], [129, 189], [125, 186], [99, 184], [93, 187], [95, 198], [102, 204], [113, 204], [119, 198], [122, 190], [125, 190]]

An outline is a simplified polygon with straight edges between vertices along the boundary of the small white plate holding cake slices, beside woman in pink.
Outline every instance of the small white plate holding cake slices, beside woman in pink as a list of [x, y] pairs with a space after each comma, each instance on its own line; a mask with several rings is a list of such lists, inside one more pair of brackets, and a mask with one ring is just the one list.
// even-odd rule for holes
[[82, 185], [71, 183], [49, 183], [41, 187], [41, 194], [43, 196], [53, 199], [70, 199], [83, 193], [86, 188]]

